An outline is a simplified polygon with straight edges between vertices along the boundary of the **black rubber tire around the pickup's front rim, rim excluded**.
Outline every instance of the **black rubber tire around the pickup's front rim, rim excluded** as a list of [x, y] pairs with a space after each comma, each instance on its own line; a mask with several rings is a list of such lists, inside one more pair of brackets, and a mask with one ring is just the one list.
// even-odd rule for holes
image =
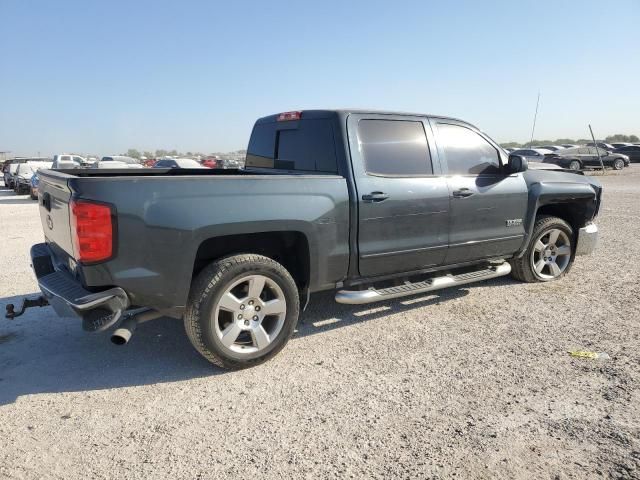
[[[551, 276], [553, 273], [549, 269], [549, 275], [536, 272], [534, 268], [535, 258], [538, 255], [542, 255], [536, 251], [536, 243], [541, 240], [545, 235], [552, 230], [560, 230], [564, 232], [566, 239], [569, 241], [570, 251], [567, 255], [568, 258], [564, 259], [566, 265], [562, 268], [559, 275]], [[555, 248], [555, 247], [554, 247]], [[573, 265], [575, 257], [575, 236], [571, 226], [558, 217], [552, 217], [548, 215], [540, 215], [536, 218], [535, 226], [533, 227], [533, 234], [527, 246], [527, 250], [521, 258], [514, 258], [509, 261], [511, 264], [511, 275], [522, 282], [535, 283], [535, 282], [548, 282], [552, 280], [559, 280], [564, 277]], [[555, 260], [554, 256], [554, 260]], [[548, 267], [545, 267], [547, 269]], [[544, 272], [544, 270], [543, 270]]]

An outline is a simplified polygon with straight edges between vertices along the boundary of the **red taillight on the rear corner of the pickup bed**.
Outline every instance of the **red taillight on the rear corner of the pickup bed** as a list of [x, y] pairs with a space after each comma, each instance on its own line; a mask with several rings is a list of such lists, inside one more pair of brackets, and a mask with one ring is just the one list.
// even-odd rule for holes
[[84, 200], [71, 202], [71, 235], [76, 260], [100, 262], [113, 254], [111, 209]]

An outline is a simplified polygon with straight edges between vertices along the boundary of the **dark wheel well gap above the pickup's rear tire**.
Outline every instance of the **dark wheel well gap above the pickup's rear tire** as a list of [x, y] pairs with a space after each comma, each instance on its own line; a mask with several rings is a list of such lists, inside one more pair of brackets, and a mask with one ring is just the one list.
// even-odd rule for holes
[[309, 243], [301, 232], [259, 232], [209, 238], [198, 247], [193, 276], [218, 258], [241, 253], [269, 257], [289, 271], [298, 288], [302, 290], [309, 285]]

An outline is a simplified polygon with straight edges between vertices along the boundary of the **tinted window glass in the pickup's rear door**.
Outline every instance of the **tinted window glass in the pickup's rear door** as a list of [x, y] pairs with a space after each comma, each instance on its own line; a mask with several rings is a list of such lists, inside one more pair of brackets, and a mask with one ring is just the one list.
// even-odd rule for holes
[[389, 176], [433, 175], [422, 122], [361, 120], [358, 141], [367, 173]]

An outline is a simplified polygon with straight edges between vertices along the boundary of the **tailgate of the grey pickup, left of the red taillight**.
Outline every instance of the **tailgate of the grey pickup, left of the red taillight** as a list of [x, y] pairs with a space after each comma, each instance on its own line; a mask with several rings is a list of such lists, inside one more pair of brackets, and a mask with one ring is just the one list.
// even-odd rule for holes
[[[38, 202], [44, 237], [55, 254], [73, 256], [73, 243], [69, 224], [71, 190], [69, 175], [53, 170], [40, 171]], [[65, 256], [65, 255], [63, 255]], [[60, 259], [63, 260], [63, 259]]]

